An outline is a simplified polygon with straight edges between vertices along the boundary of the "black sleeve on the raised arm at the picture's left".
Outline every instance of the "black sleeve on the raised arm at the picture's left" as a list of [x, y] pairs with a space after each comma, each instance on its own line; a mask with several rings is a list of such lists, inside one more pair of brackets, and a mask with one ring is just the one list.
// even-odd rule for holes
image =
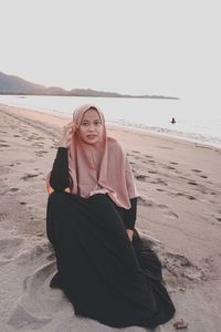
[[59, 147], [50, 176], [50, 186], [57, 191], [70, 187], [67, 148]]

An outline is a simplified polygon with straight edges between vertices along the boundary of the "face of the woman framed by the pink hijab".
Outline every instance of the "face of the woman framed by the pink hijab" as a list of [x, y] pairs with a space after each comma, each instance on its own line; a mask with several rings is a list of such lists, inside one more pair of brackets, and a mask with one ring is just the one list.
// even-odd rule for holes
[[95, 144], [102, 139], [103, 131], [104, 126], [97, 111], [86, 111], [78, 128], [80, 137], [87, 144]]

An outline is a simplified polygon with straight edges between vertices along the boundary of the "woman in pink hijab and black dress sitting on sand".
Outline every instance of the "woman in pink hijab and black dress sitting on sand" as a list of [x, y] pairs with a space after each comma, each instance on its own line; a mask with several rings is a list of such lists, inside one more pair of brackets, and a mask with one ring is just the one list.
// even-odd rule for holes
[[48, 237], [56, 256], [51, 287], [75, 314], [115, 328], [157, 326], [175, 307], [161, 264], [135, 228], [137, 197], [122, 147], [107, 137], [102, 111], [76, 108], [49, 176]]

